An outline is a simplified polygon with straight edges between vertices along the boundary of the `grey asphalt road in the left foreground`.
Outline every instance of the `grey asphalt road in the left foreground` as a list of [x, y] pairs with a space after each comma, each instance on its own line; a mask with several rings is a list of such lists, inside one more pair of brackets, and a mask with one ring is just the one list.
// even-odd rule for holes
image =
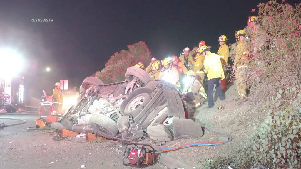
[[[0, 114], [0, 118], [26, 120], [25, 124], [0, 129], [0, 168], [132, 168], [123, 165], [124, 146], [119, 142], [87, 142], [85, 137], [60, 137], [55, 131], [28, 130], [35, 126], [38, 112], [6, 113]], [[0, 123], [14, 122], [0, 119]], [[147, 168], [166, 167], [159, 163]]]

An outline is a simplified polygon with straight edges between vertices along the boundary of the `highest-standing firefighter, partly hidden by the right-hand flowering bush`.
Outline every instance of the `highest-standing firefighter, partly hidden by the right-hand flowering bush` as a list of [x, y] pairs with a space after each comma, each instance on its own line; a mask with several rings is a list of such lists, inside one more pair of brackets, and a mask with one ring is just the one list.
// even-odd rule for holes
[[249, 17], [247, 25], [247, 28], [252, 30], [251, 41], [254, 44], [253, 53], [256, 53], [257, 51], [263, 52], [266, 49], [265, 43], [268, 41], [268, 36], [261, 29], [257, 17]]

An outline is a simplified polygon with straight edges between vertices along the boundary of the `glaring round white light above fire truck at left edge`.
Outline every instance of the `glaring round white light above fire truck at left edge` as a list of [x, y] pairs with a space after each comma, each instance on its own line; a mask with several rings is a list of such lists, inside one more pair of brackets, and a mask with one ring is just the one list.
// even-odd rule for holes
[[23, 69], [22, 58], [14, 51], [0, 49], [0, 77], [11, 77], [17, 75]]

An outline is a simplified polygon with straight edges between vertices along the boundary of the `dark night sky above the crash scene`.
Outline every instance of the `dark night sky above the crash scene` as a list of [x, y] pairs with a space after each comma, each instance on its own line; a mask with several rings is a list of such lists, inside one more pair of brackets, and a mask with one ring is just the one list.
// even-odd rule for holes
[[[158, 59], [178, 56], [200, 40], [216, 53], [218, 37], [234, 43], [234, 32], [256, 15], [250, 10], [260, 2], [267, 1], [1, 1], [0, 45], [26, 59], [23, 73], [36, 90], [51, 91], [60, 79], [79, 87], [114, 52], [138, 41]], [[39, 18], [53, 22], [30, 21]]]

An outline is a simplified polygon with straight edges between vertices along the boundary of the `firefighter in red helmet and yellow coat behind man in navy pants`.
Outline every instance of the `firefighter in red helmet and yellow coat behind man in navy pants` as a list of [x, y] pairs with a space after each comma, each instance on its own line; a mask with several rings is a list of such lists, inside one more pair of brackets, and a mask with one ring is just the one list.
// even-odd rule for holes
[[[205, 41], [200, 41], [199, 45], [206, 45]], [[201, 47], [201, 46], [200, 46]], [[201, 48], [197, 48], [197, 56], [196, 56], [196, 60], [195, 60], [195, 64], [194, 64], [194, 72], [198, 75], [198, 77], [200, 78], [199, 81], [200, 83], [205, 87], [205, 72], [203, 71], [204, 69], [204, 59], [205, 57], [203, 57], [203, 55], [200, 54], [200, 49]]]

